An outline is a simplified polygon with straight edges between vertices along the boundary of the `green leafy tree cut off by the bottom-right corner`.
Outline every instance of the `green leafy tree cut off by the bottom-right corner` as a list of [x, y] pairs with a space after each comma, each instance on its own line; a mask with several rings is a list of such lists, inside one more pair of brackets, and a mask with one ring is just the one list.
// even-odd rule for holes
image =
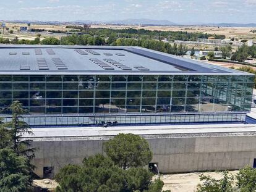
[[256, 191], [256, 169], [245, 167], [236, 176], [237, 186], [241, 192]]

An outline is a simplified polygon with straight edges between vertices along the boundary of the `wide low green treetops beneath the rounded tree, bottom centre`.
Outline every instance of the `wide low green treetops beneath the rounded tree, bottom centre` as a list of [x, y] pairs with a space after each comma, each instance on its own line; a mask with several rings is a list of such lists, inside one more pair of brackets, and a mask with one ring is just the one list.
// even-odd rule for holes
[[57, 192], [160, 192], [163, 182], [152, 182], [153, 174], [147, 169], [123, 170], [108, 157], [96, 155], [83, 160], [82, 165], [66, 165], [56, 175]]

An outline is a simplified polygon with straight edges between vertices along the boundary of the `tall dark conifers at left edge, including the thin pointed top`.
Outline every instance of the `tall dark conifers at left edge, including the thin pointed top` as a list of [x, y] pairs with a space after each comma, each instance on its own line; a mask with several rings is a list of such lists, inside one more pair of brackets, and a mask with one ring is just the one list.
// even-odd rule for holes
[[22, 135], [32, 132], [22, 120], [22, 104], [14, 101], [10, 110], [11, 122], [0, 123], [0, 192], [25, 192], [32, 185], [33, 149], [29, 148], [29, 140], [22, 140]]

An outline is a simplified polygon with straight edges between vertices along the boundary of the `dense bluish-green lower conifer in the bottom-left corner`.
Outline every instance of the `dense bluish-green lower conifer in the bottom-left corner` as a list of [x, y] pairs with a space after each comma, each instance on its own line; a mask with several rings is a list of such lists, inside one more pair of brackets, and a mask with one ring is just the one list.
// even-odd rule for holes
[[28, 159], [12, 149], [0, 149], [0, 192], [26, 192], [32, 186]]

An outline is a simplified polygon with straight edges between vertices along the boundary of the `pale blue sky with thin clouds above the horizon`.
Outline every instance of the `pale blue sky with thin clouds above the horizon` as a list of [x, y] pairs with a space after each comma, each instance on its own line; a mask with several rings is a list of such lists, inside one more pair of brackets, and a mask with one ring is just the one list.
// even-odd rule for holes
[[256, 22], [256, 0], [1, 0], [0, 20]]

